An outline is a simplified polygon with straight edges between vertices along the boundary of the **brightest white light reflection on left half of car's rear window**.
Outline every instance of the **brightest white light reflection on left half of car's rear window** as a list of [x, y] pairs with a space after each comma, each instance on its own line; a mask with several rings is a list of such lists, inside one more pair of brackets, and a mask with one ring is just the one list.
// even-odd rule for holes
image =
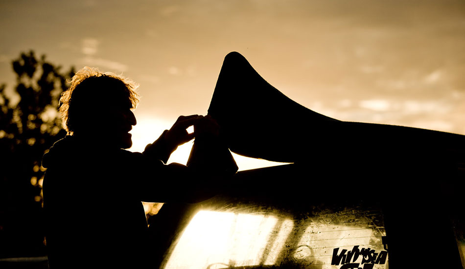
[[[227, 268], [263, 263], [265, 248], [278, 218], [263, 214], [198, 212], [172, 251], [165, 269]], [[285, 220], [266, 264], [276, 261], [292, 228]]]

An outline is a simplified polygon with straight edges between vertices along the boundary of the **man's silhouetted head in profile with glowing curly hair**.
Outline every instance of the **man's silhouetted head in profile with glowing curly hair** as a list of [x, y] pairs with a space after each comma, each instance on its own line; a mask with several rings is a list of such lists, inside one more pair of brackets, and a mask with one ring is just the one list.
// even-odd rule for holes
[[95, 145], [130, 148], [129, 132], [137, 123], [132, 112], [139, 102], [137, 87], [129, 79], [96, 68], [79, 70], [60, 99], [68, 134]]

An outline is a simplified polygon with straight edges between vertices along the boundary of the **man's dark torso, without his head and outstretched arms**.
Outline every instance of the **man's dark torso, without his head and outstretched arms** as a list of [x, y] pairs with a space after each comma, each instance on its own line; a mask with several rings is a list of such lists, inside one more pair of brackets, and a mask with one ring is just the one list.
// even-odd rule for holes
[[137, 192], [141, 154], [92, 149], [76, 140], [68, 136], [44, 157], [49, 265], [134, 268], [147, 250], [147, 223]]

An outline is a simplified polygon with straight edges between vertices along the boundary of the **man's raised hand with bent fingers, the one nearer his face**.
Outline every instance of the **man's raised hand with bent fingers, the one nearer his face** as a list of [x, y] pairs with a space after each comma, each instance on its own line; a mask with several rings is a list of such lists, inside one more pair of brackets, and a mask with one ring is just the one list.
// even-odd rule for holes
[[203, 117], [202, 115], [179, 116], [173, 126], [165, 134], [164, 138], [166, 139], [168, 147], [176, 149], [178, 146], [193, 139], [195, 137], [195, 132], [189, 134], [186, 129], [196, 124]]

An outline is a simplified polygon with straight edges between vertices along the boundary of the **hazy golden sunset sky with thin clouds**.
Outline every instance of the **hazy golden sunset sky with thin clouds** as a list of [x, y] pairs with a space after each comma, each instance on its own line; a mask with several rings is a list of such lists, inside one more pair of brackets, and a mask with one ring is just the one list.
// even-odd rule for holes
[[231, 51], [332, 118], [465, 134], [463, 0], [1, 0], [0, 25], [10, 91], [11, 61], [30, 49], [139, 83], [134, 151], [179, 115], [207, 113]]

